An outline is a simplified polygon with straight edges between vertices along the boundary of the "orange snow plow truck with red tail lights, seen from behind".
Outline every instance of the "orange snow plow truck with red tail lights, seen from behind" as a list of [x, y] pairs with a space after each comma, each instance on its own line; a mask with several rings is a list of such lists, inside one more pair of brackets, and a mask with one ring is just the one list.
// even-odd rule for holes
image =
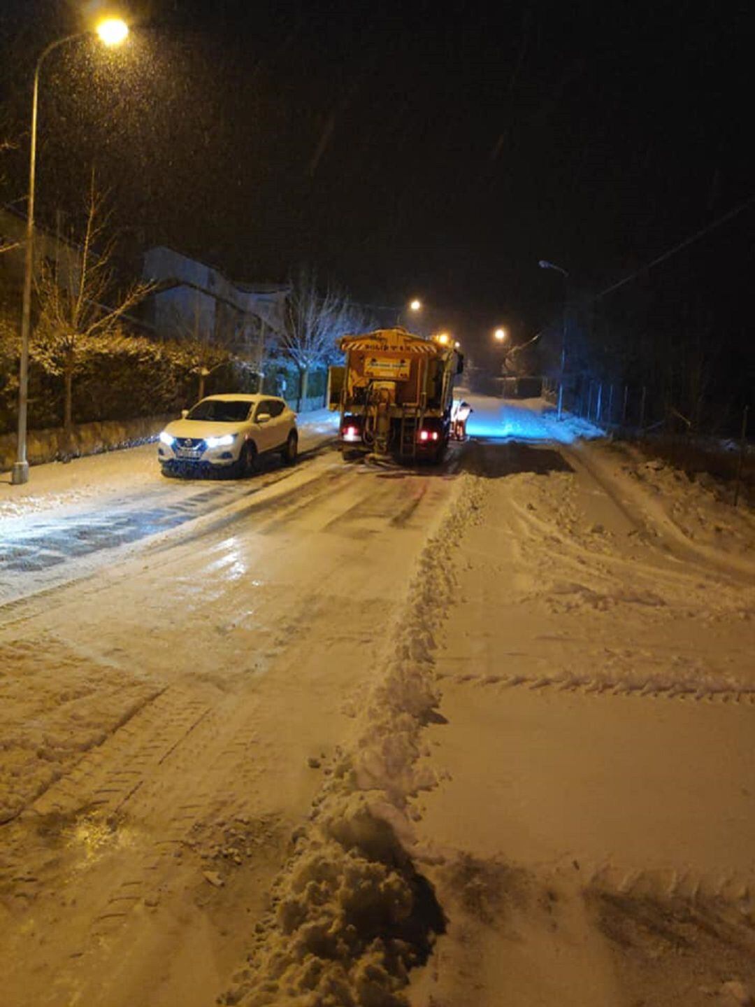
[[344, 457], [440, 461], [450, 437], [453, 381], [463, 368], [448, 337], [379, 328], [345, 335], [337, 345], [346, 361], [330, 369], [328, 401], [341, 413]]

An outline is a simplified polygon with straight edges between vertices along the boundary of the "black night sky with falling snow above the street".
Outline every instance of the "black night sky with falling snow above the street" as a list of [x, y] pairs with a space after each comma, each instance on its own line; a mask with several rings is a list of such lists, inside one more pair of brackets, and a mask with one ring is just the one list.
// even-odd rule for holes
[[[417, 293], [465, 337], [524, 338], [562, 296], [539, 259], [594, 294], [755, 192], [746, 0], [131, 6], [128, 52], [45, 68], [39, 205], [75, 221], [96, 162], [134, 249], [247, 281], [310, 263], [362, 301]], [[6, 8], [10, 200], [33, 60], [81, 6]], [[672, 319], [749, 327], [753, 212], [645, 281]]]

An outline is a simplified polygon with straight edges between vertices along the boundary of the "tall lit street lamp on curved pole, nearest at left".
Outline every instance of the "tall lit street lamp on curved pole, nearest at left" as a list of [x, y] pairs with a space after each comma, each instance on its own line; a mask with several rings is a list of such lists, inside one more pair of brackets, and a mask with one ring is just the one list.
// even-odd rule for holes
[[[129, 34], [129, 26], [120, 18], [107, 18], [95, 28], [106, 45], [118, 45]], [[31, 149], [29, 152], [29, 200], [26, 211], [26, 249], [23, 277], [23, 306], [21, 308], [21, 363], [18, 373], [18, 444], [16, 461], [11, 472], [11, 482], [29, 481], [29, 463], [26, 459], [26, 412], [29, 390], [29, 328], [31, 319], [31, 279], [34, 271], [34, 181], [36, 172], [37, 104], [39, 97], [39, 70], [54, 49], [91, 34], [91, 29], [77, 31], [58, 38], [42, 50], [34, 67], [34, 88], [31, 98]]]

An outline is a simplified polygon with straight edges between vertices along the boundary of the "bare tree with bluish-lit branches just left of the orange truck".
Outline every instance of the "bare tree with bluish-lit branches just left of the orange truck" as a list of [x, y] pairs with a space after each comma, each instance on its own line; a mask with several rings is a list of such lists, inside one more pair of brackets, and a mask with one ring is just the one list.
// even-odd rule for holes
[[303, 267], [293, 278], [286, 301], [279, 344], [299, 371], [299, 405], [307, 398], [314, 368], [336, 357], [336, 339], [369, 323], [363, 312], [340, 291], [318, 289], [313, 270]]

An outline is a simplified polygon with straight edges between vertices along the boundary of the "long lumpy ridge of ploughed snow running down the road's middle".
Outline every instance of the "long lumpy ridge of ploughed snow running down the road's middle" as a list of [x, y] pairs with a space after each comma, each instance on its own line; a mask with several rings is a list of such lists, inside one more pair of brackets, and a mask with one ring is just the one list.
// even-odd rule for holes
[[451, 557], [482, 496], [459, 479], [428, 539], [363, 706], [257, 924], [249, 968], [222, 1003], [400, 1007], [409, 970], [426, 961], [444, 918], [407, 850], [407, 801], [434, 779], [417, 770], [420, 735], [437, 705], [433, 634], [453, 597]]

